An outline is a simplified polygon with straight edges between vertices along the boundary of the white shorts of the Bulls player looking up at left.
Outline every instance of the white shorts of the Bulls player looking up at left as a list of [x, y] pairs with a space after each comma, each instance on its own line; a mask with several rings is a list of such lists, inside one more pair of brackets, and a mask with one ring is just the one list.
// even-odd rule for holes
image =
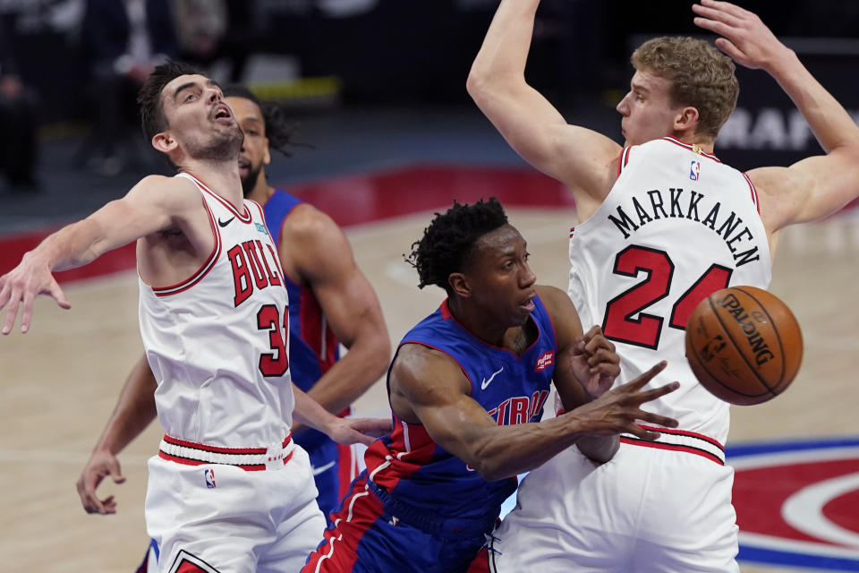
[[[162, 442], [164, 443], [164, 442]], [[146, 524], [162, 573], [302, 569], [325, 530], [307, 453], [262, 471], [149, 459]]]

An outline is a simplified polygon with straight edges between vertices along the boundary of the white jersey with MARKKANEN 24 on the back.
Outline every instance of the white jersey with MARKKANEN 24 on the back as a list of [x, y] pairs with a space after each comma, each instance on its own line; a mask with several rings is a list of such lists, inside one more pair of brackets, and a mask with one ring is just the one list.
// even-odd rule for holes
[[680, 389], [644, 408], [724, 444], [728, 406], [696, 381], [685, 325], [721, 288], [769, 285], [757, 193], [744, 173], [673, 138], [626, 148], [618, 171], [600, 208], [570, 231], [569, 295], [583, 325], [600, 324], [616, 344], [616, 384], [667, 360], [651, 385]]

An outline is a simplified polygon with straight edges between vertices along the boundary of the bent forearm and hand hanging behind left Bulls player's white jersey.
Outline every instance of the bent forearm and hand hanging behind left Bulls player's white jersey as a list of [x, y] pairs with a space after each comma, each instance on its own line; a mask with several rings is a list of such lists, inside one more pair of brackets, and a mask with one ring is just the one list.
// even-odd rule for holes
[[114, 413], [110, 415], [104, 432], [92, 449], [87, 465], [78, 478], [78, 495], [87, 513], [116, 513], [114, 496], [99, 500], [98, 484], [107, 476], [115, 483], [123, 483], [122, 470], [116, 455], [143, 432], [155, 419], [155, 390], [157, 383], [146, 356], [140, 358], [125, 381]]

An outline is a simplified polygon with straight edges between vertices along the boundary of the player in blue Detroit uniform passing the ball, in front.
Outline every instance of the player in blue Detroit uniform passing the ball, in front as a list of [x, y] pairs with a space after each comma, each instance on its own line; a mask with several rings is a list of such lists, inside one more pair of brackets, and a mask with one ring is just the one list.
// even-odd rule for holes
[[[394, 430], [334, 514], [304, 572], [464, 571], [516, 488], [516, 475], [576, 445], [611, 458], [617, 434], [674, 427], [640, 406], [664, 367], [607, 392], [619, 372], [599, 327], [566, 294], [535, 285], [522, 235], [494, 198], [437, 213], [407, 261], [447, 299], [409, 331], [388, 370]], [[554, 382], [566, 414], [539, 422]]]

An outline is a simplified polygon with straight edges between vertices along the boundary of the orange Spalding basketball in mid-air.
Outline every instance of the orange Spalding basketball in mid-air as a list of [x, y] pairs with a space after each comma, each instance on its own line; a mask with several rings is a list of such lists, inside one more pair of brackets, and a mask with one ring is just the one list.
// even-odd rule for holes
[[754, 286], [723, 288], [686, 324], [686, 358], [702, 386], [731, 404], [775, 398], [803, 361], [803, 334], [777, 296]]

